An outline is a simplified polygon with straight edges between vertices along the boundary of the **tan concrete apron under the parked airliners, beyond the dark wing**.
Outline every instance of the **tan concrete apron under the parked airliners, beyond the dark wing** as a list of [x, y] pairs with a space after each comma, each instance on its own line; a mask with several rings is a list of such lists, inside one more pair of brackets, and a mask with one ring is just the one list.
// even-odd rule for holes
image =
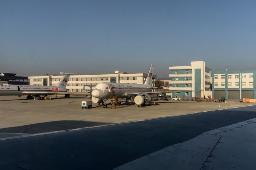
[[240, 100], [230, 100], [234, 103], [158, 100], [158, 105], [151, 102], [144, 107], [122, 102], [121, 107], [112, 109], [110, 105], [98, 108], [97, 104], [82, 109], [81, 102], [85, 100], [89, 97], [55, 99], [52, 95], [52, 100], [27, 100], [26, 96], [0, 96], [0, 133], [43, 133], [255, 105]]

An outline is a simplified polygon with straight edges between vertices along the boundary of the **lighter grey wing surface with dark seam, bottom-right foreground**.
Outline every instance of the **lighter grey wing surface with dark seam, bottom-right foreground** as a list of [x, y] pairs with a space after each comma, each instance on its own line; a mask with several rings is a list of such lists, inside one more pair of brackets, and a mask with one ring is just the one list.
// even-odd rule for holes
[[254, 170], [256, 118], [214, 129], [133, 160], [115, 170]]

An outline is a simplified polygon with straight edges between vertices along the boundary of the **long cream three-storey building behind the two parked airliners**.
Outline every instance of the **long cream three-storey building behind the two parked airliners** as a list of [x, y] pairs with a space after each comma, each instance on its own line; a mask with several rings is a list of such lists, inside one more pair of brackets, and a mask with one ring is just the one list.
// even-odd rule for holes
[[[131, 83], [144, 84], [148, 74], [145, 73], [115, 73], [115, 74], [98, 74], [98, 75], [71, 75], [68, 79], [68, 92], [84, 92], [85, 89], [90, 90], [90, 86], [95, 86], [99, 83]], [[28, 77], [30, 85], [54, 85], [57, 84], [62, 75], [49, 76], [30, 76]], [[152, 85], [155, 86], [156, 75], [152, 77]], [[93, 87], [92, 87], [93, 88]]]

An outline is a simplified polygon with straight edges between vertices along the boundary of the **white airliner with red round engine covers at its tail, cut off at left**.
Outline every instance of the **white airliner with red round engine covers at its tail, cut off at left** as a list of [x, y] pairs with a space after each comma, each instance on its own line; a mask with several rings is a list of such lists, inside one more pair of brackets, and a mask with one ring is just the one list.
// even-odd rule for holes
[[[63, 73], [63, 77], [60, 81], [51, 86], [46, 85], [0, 85], [0, 96], [21, 96], [21, 95], [28, 95], [27, 99], [38, 99], [42, 100], [47, 95], [52, 94], [65, 94], [67, 92], [67, 83], [68, 78], [72, 73]], [[44, 96], [44, 97], [43, 97]], [[69, 94], [65, 94], [65, 97], [69, 97]]]

